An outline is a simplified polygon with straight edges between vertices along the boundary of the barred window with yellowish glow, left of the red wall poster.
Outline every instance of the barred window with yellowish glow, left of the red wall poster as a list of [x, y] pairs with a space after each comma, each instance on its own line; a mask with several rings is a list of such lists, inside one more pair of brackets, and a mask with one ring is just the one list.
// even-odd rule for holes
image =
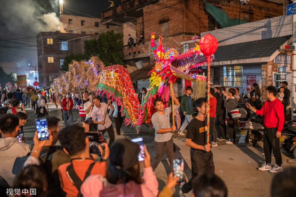
[[224, 66], [220, 71], [223, 86], [242, 87], [242, 66]]

